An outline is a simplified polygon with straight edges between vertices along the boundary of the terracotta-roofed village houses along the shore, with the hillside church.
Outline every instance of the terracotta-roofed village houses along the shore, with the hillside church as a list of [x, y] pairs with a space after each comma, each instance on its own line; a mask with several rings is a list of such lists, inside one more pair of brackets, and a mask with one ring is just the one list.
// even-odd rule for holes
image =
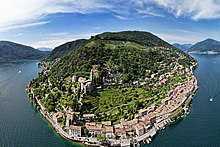
[[[172, 66], [174, 71], [183, 68], [176, 63], [172, 63]], [[190, 67], [190, 69], [192, 68], [193, 67]], [[159, 76], [158, 81], [154, 84], [154, 86], [164, 84], [170, 77], [173, 76], [174, 71], [164, 75], [152, 74], [151, 78]], [[51, 114], [42, 111], [45, 110], [45, 108], [40, 103], [39, 98], [34, 96], [33, 89], [31, 89], [29, 85], [27, 86], [27, 91], [37, 100], [37, 103], [41, 107], [40, 111], [45, 118], [49, 119], [48, 121], [55, 126], [55, 129], [58, 130], [62, 136], [65, 136], [68, 139], [74, 138], [77, 141], [83, 140], [85, 142], [86, 140], [89, 140], [90, 143], [94, 142], [94, 145], [100, 145], [101, 143], [97, 141], [97, 139], [94, 139], [95, 141], [91, 141], [90, 138], [94, 138], [97, 134], [104, 134], [110, 141], [110, 145], [122, 145], [123, 143], [130, 144], [130, 142], [134, 140], [137, 142], [147, 140], [147, 142], [149, 142], [151, 140], [150, 138], [154, 137], [158, 130], [164, 129], [167, 124], [171, 123], [172, 120], [176, 118], [176, 115], [172, 115], [175, 113], [175, 111], [177, 111], [179, 108], [182, 108], [183, 111], [187, 111], [185, 108], [188, 108], [188, 105], [185, 105], [185, 102], [187, 99], [192, 97], [198, 86], [192, 71], [187, 69], [186, 72], [190, 75], [188, 80], [184, 83], [176, 84], [174, 88], [167, 91], [166, 96], [161, 100], [159, 106], [152, 104], [147, 108], [142, 108], [138, 110], [138, 113], [135, 115], [134, 119], [121, 119], [120, 123], [115, 125], [112, 125], [111, 121], [97, 122], [98, 118], [95, 114], [82, 114], [80, 112], [74, 112], [66, 109], [64, 109], [62, 112], [51, 113], [51, 120]], [[82, 77], [77, 78], [75, 75], [72, 76], [71, 80], [74, 83], [78, 82], [81, 92], [84, 94], [89, 94], [93, 90], [93, 79], [94, 73], [91, 71], [89, 80]], [[48, 82], [50, 85], [49, 80]], [[134, 81], [133, 84], [137, 86], [144, 86], [146, 85], [146, 81]], [[66, 120], [66, 126], [64, 128], [62, 128], [58, 123], [62, 121], [62, 119]], [[77, 121], [79, 120], [83, 123], [78, 123]], [[83, 135], [83, 126], [88, 130], [89, 136], [85, 137], [84, 139], [80, 138]], [[133, 139], [127, 139], [128, 137]], [[124, 141], [119, 141], [118, 139]], [[118, 141], [119, 143], [116, 143]]]

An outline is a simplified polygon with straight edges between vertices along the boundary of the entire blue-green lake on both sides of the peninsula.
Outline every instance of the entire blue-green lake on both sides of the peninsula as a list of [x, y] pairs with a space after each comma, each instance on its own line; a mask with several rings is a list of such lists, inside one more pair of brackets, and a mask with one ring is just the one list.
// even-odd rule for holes
[[[195, 71], [199, 90], [190, 114], [144, 146], [220, 146], [220, 55], [193, 56], [199, 62]], [[40, 71], [37, 63], [0, 63], [0, 146], [80, 146], [57, 135], [29, 101], [25, 87]]]

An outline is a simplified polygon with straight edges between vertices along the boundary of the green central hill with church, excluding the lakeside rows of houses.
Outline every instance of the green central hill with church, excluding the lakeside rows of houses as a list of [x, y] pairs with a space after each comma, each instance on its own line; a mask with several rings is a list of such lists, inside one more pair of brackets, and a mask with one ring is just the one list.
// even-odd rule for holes
[[103, 33], [73, 47], [30, 85], [49, 112], [62, 104], [116, 123], [134, 118], [141, 108], [159, 106], [195, 65], [192, 57], [151, 33]]

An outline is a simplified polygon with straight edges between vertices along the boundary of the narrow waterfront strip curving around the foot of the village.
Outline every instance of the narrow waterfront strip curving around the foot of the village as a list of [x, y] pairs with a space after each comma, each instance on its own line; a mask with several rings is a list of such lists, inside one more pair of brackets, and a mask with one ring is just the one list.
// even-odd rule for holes
[[[188, 108], [190, 107], [189, 105], [190, 105], [191, 101], [187, 106], [184, 106], [184, 108], [186, 108], [186, 111], [184, 110], [184, 112], [181, 113], [181, 115], [178, 115], [174, 120], [171, 120], [168, 117], [168, 116], [170, 116], [170, 113], [175, 112], [178, 108], [182, 107], [182, 105], [185, 103], [185, 101], [187, 99], [189, 99], [189, 98], [192, 99], [193, 96], [195, 95], [196, 91], [198, 90], [198, 85], [197, 85], [197, 80], [196, 80], [195, 75], [192, 75], [191, 77], [194, 79], [193, 91], [190, 91], [191, 93], [190, 93], [190, 95], [188, 95], [188, 98], [183, 99], [181, 105], [176, 107], [176, 109], [174, 109], [173, 111], [171, 111], [169, 113], [166, 113], [165, 114], [166, 117], [165, 117], [164, 120], [159, 121], [159, 120], [155, 119], [154, 124], [152, 125], [151, 129], [148, 130], [147, 133], [145, 132], [143, 135], [133, 137], [133, 139], [120, 139], [120, 140], [109, 139], [108, 141], [110, 141], [110, 146], [129, 146], [131, 144], [138, 145], [141, 142], [150, 143], [151, 140], [155, 137], [155, 135], [157, 134], [158, 131], [165, 129], [165, 127], [167, 125], [172, 124], [173, 122], [178, 120], [180, 117], [187, 116], [189, 114]], [[47, 120], [47, 122], [49, 122], [49, 124], [53, 127], [53, 129], [56, 131], [57, 134], [59, 134], [64, 139], [67, 139], [69, 141], [83, 143], [83, 144], [88, 145], [88, 146], [100, 146], [101, 145], [101, 142], [99, 142], [96, 138], [89, 138], [89, 137], [77, 137], [76, 138], [76, 137], [72, 137], [71, 135], [69, 135], [60, 125], [56, 124], [53, 121], [51, 115], [46, 111], [46, 108], [44, 108], [44, 106], [40, 103], [40, 100], [37, 97], [34, 96], [34, 92], [32, 90], [30, 90], [31, 88], [30, 89], [29, 88], [30, 87], [28, 87], [26, 89], [26, 91], [28, 92], [28, 96], [30, 94], [32, 94], [32, 96], [33, 96], [32, 101], [36, 101], [37, 102], [36, 104], [38, 106], [40, 106], [40, 109], [37, 109], [37, 110], [39, 110], [41, 115]], [[30, 98], [30, 96], [29, 96], [29, 98]], [[36, 106], [35, 106], [35, 108], [36, 108]], [[163, 115], [163, 116], [165, 116], [165, 115]], [[143, 117], [145, 117], [145, 115], [143, 115]], [[140, 118], [141, 118], [141, 116], [139, 116], [139, 119]], [[160, 115], [158, 115], [157, 118], [160, 118]]]

